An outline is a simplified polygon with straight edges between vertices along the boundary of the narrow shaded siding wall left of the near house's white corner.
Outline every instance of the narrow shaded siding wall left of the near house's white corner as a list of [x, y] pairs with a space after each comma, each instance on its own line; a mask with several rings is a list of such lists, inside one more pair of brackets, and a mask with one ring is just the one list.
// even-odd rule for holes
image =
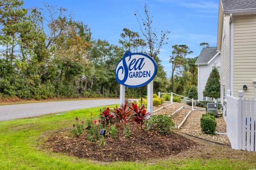
[[221, 44], [221, 71], [220, 71], [220, 83], [221, 83], [221, 102], [223, 102], [223, 86], [225, 87], [225, 94], [230, 89], [230, 36], [229, 36], [229, 17], [223, 19], [222, 30], [222, 44]]

